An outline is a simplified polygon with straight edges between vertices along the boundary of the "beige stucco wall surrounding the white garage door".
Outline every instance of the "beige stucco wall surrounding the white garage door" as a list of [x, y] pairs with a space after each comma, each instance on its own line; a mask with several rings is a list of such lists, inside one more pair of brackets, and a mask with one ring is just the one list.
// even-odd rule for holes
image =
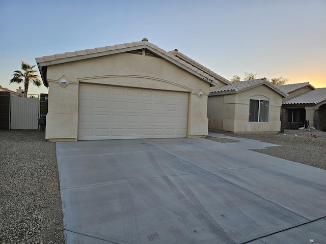
[[[67, 85], [59, 83], [62, 78]], [[47, 139], [77, 140], [79, 82], [188, 92], [187, 137], [207, 135], [209, 83], [166, 59], [120, 53], [78, 60], [48, 66], [47, 81]], [[200, 90], [201, 98], [197, 95]]]

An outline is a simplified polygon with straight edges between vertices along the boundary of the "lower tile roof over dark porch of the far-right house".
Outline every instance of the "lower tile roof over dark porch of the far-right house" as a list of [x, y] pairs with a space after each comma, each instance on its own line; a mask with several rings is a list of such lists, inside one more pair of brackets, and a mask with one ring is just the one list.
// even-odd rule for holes
[[326, 88], [316, 88], [308, 93], [289, 99], [282, 104], [318, 104], [326, 100]]

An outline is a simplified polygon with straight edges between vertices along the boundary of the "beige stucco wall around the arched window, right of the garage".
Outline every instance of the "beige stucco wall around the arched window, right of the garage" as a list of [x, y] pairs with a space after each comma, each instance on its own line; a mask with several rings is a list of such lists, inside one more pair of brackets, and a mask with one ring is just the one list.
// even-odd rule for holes
[[[269, 100], [268, 122], [249, 122], [250, 99]], [[208, 128], [234, 133], [277, 133], [282, 96], [266, 85], [230, 95], [208, 97]]]

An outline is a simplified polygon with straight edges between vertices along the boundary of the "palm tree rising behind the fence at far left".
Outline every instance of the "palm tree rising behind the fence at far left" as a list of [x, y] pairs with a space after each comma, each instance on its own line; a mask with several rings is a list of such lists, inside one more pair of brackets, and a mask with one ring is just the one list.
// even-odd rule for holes
[[39, 76], [34, 74], [37, 72], [37, 70], [33, 70], [35, 65], [31, 66], [28, 63], [25, 63], [21, 61], [21, 70], [16, 70], [14, 71], [15, 74], [13, 74], [13, 78], [10, 80], [10, 83], [16, 82], [24, 82], [24, 96], [27, 95], [27, 91], [29, 89], [29, 85], [31, 82], [33, 82], [34, 85], [40, 86], [41, 85], [41, 80], [39, 79]]

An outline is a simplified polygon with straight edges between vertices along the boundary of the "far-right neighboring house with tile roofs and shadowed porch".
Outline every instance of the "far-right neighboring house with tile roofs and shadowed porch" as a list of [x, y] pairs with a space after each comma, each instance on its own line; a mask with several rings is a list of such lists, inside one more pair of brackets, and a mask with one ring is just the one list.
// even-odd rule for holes
[[278, 87], [289, 94], [282, 102], [282, 128], [304, 127], [307, 120], [309, 127], [326, 131], [326, 88], [315, 88], [309, 82]]

